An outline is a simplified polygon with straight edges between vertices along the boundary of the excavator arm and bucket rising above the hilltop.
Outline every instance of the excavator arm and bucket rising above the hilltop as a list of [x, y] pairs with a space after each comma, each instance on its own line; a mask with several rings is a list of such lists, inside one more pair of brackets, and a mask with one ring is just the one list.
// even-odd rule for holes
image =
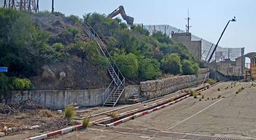
[[126, 20], [127, 25], [133, 25], [134, 18], [127, 16], [125, 14], [123, 6], [119, 6], [117, 9], [115, 9], [112, 13], [108, 14], [108, 18], [114, 18], [116, 15], [121, 14], [123, 20]]

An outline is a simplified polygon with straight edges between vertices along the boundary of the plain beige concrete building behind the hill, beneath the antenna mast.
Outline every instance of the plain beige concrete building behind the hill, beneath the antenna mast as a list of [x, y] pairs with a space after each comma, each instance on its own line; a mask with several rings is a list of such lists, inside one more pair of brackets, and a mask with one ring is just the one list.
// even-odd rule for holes
[[186, 45], [190, 54], [198, 61], [201, 61], [202, 42], [191, 41], [191, 33], [173, 33], [171, 34], [171, 39]]

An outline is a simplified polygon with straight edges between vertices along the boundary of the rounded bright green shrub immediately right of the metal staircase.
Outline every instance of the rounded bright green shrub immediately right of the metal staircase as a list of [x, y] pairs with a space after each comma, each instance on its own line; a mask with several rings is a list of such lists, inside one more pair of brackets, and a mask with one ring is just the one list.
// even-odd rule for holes
[[132, 53], [114, 55], [115, 62], [119, 70], [123, 73], [124, 76], [128, 78], [135, 78], [138, 75], [139, 63], [136, 56]]

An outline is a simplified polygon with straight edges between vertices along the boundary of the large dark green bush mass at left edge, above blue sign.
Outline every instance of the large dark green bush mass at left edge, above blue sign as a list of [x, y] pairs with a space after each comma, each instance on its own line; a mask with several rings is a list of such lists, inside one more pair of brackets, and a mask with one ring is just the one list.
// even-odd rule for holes
[[50, 34], [35, 28], [31, 16], [11, 8], [0, 8], [0, 65], [8, 76], [29, 77], [43, 65], [40, 54], [48, 49]]

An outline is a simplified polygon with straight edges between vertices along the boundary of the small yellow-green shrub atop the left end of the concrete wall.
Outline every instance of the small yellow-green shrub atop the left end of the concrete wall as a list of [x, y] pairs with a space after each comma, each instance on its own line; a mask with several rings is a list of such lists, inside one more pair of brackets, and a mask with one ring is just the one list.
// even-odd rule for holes
[[20, 78], [14, 78], [12, 85], [15, 90], [28, 90], [32, 87], [32, 84], [29, 79], [20, 79]]

